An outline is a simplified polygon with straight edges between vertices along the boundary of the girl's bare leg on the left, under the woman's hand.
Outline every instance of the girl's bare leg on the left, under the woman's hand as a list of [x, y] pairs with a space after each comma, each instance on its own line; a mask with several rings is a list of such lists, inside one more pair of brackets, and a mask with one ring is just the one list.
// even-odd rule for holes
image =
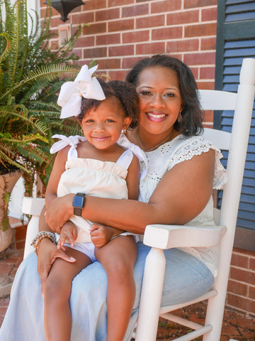
[[66, 247], [66, 253], [77, 261], [69, 263], [60, 258], [56, 259], [43, 288], [44, 325], [47, 341], [70, 341], [72, 316], [69, 297], [72, 280], [82, 269], [92, 263], [89, 256], [80, 251]]

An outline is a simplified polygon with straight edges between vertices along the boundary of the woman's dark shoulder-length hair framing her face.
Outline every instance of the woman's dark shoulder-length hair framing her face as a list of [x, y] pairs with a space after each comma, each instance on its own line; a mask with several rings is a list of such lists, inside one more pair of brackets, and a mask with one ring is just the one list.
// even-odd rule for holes
[[174, 129], [186, 136], [202, 134], [203, 110], [200, 108], [198, 99], [198, 87], [191, 69], [181, 60], [169, 55], [153, 55], [138, 61], [128, 72], [125, 80], [137, 87], [142, 70], [157, 66], [174, 70], [179, 79], [179, 87], [183, 99], [182, 121], [181, 123], [176, 121]]

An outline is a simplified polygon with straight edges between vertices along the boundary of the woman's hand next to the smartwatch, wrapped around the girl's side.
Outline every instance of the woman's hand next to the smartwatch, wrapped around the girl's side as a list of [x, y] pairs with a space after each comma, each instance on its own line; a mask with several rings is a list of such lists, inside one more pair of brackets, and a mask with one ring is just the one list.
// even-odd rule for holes
[[64, 223], [74, 215], [73, 198], [74, 194], [67, 194], [63, 197], [56, 197], [50, 202], [50, 205], [47, 205], [45, 220], [53, 232], [60, 234]]

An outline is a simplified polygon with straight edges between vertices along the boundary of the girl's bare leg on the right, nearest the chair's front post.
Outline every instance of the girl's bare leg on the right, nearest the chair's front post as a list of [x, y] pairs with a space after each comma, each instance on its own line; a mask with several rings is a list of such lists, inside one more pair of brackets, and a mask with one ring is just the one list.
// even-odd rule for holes
[[137, 247], [132, 236], [119, 236], [100, 249], [96, 259], [101, 262], [108, 278], [107, 338], [106, 341], [123, 341], [135, 301], [133, 269]]

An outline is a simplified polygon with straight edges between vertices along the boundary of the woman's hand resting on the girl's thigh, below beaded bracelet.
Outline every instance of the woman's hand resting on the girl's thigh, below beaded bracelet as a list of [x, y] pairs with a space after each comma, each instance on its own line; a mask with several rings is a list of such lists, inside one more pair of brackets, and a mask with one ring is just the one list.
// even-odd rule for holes
[[73, 257], [67, 256], [62, 249], [57, 249], [57, 245], [53, 244], [50, 239], [42, 239], [38, 250], [38, 274], [40, 275], [42, 293], [44, 283], [50, 273], [50, 268], [57, 258], [69, 261], [70, 263], [76, 261]]

